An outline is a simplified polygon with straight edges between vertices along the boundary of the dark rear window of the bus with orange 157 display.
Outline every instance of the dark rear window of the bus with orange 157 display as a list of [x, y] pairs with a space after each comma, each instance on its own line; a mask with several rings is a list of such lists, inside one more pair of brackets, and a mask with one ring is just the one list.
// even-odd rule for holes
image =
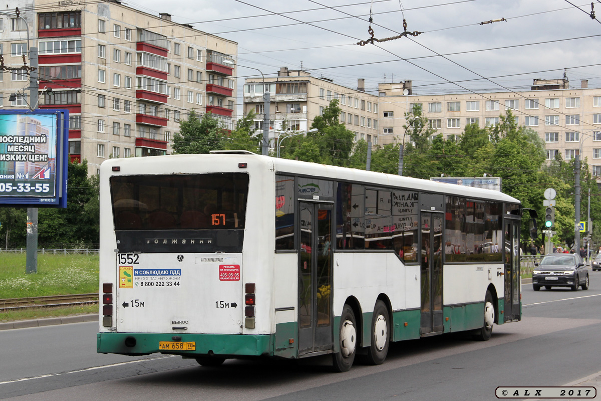
[[244, 228], [248, 174], [111, 177], [115, 230]]

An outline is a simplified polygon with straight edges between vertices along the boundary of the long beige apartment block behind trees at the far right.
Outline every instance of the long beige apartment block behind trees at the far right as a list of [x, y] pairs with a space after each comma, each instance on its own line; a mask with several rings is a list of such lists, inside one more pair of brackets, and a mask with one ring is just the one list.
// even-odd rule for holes
[[[601, 178], [601, 89], [570, 87], [563, 79], [535, 79], [529, 91], [413, 94], [406, 82], [379, 85], [380, 139], [382, 144], [403, 141], [405, 112], [420, 104], [430, 127], [445, 139], [459, 138], [468, 124], [479, 127], [499, 123], [508, 109], [516, 123], [535, 130], [545, 141], [547, 159], [569, 160], [580, 153], [591, 172]], [[407, 138], [404, 138], [407, 141]]]

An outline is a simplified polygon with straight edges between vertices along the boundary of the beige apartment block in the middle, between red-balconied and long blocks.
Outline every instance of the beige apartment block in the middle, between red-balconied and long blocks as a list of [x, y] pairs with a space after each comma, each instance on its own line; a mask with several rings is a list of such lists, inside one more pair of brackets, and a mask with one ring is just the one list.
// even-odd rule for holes
[[[356, 89], [335, 84], [324, 77], [312, 76], [303, 70], [281, 67], [276, 77], [264, 78], [270, 93], [269, 139], [273, 148], [280, 135], [310, 129], [317, 115], [338, 99], [340, 121], [355, 133], [355, 140], [378, 144], [378, 97], [365, 93], [364, 79], [358, 79]], [[255, 128], [263, 129], [263, 78], [247, 78], [244, 85], [244, 114], [254, 111]]]

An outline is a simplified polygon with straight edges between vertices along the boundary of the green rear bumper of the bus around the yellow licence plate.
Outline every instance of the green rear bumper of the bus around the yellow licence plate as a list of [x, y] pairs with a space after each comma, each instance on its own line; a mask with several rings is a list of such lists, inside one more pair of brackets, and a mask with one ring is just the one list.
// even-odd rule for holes
[[162, 350], [159, 341], [174, 341], [172, 333], [98, 333], [99, 354], [148, 355], [160, 352], [174, 355], [250, 356], [272, 355], [273, 336], [249, 334], [178, 334], [183, 342], [194, 342], [195, 350]]

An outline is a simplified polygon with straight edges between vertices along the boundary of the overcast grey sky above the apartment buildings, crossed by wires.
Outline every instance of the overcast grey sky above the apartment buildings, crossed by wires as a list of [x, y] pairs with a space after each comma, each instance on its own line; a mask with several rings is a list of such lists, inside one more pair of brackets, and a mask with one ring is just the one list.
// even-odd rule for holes
[[[364, 78], [365, 89], [377, 93], [380, 82], [410, 79], [414, 94], [438, 94], [526, 90], [532, 79], [561, 78], [566, 68], [570, 87], [582, 79], [601, 87], [594, 65], [601, 63], [600, 0], [599, 20], [588, 15], [590, 1], [576, 0], [570, 2], [581, 10], [566, 0], [138, 1], [124, 4], [237, 41], [238, 63], [266, 76], [302, 63], [351, 88]], [[422, 33], [358, 46], [370, 37], [370, 7], [375, 38], [403, 32], [403, 16], [407, 31]], [[479, 25], [500, 18], [507, 22]], [[240, 77], [256, 74], [238, 70]], [[458, 82], [465, 80], [473, 81]]]

